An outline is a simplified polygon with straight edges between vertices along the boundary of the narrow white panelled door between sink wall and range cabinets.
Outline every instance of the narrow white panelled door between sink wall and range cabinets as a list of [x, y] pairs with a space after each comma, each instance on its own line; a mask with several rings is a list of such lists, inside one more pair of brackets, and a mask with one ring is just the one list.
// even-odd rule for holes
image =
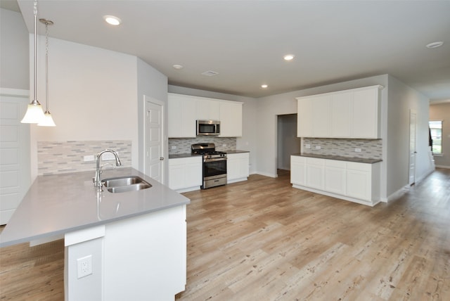
[[163, 177], [163, 136], [162, 136], [162, 122], [163, 104], [154, 98], [144, 96], [146, 121], [144, 125], [144, 143], [145, 143], [145, 170], [144, 173], [164, 183]]

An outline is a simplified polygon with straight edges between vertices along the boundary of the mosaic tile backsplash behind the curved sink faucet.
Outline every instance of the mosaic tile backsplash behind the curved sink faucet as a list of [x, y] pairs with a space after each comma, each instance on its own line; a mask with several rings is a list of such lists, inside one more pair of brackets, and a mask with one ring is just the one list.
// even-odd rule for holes
[[[131, 141], [38, 141], [37, 173], [64, 174], [95, 171], [96, 161], [84, 162], [85, 155], [94, 155], [110, 148], [119, 155], [121, 167], [131, 167]], [[114, 161], [106, 161], [114, 162]], [[102, 165], [105, 164], [102, 162]], [[115, 166], [115, 164], [114, 164]], [[109, 168], [109, 167], [105, 167]]]

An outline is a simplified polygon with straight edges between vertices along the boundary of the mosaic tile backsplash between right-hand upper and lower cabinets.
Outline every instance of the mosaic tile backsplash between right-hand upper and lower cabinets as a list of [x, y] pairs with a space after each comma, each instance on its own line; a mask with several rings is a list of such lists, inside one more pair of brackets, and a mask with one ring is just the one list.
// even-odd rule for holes
[[[309, 144], [311, 148], [306, 148]], [[316, 149], [320, 146], [321, 149]], [[354, 151], [361, 148], [361, 152]], [[303, 153], [317, 155], [341, 155], [364, 159], [381, 159], [383, 155], [383, 141], [381, 139], [330, 139], [330, 138], [304, 138]]]

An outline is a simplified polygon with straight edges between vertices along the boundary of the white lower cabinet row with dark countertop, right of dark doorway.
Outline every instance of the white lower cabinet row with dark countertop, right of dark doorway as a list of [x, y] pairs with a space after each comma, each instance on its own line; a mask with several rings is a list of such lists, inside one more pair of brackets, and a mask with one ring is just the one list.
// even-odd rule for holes
[[380, 162], [290, 158], [293, 187], [373, 206], [380, 201]]

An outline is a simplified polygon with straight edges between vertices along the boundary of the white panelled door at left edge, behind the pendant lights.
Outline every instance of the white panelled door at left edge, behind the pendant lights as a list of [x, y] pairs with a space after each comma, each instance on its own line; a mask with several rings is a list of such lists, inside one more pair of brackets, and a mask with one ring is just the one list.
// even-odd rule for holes
[[0, 96], [0, 224], [7, 224], [30, 187], [30, 125], [20, 120], [30, 101], [15, 89]]

